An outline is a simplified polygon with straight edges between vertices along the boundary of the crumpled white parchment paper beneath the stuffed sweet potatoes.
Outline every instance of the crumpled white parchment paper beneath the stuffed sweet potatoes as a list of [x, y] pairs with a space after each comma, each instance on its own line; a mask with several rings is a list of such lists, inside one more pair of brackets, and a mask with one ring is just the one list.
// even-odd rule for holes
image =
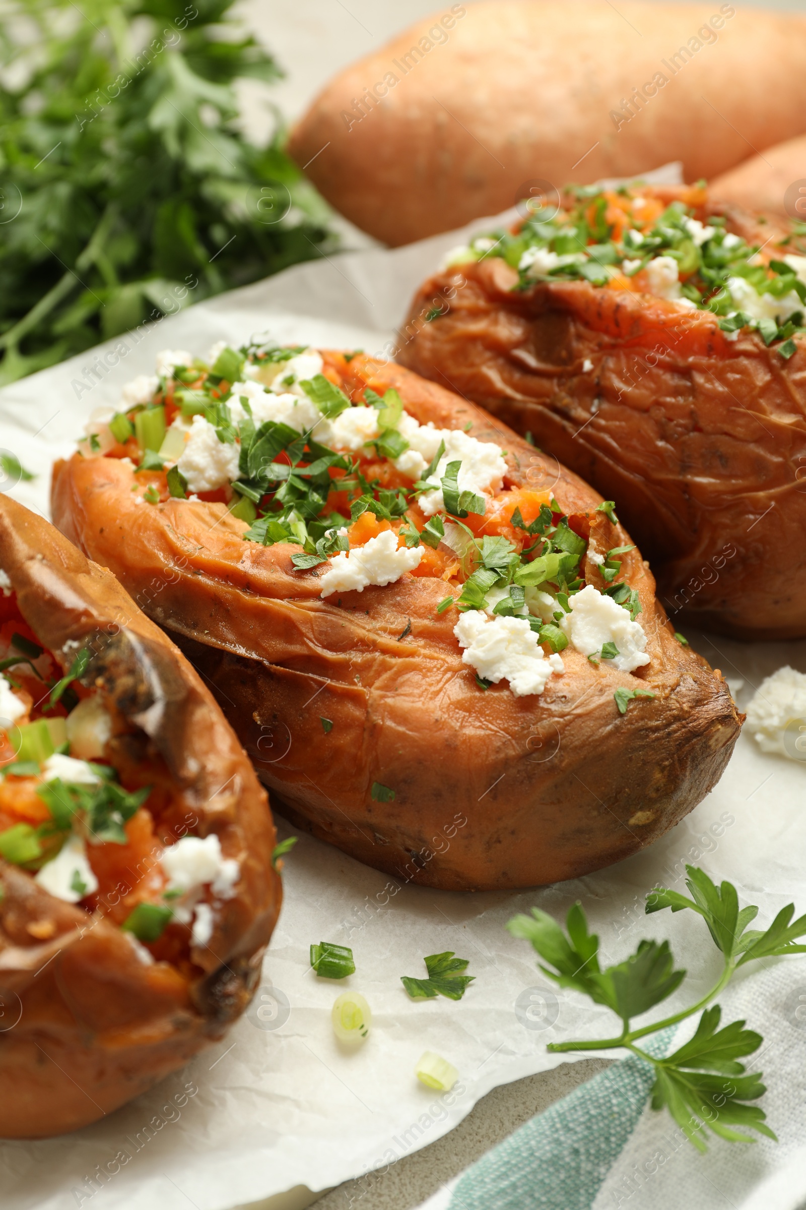
[[[297, 266], [5, 388], [0, 446], [37, 472], [6, 490], [47, 514], [53, 457], [71, 451], [93, 408], [117, 403], [126, 381], [152, 373], [161, 348], [205, 353], [215, 340], [239, 344], [263, 332], [297, 344], [390, 348], [416, 286], [459, 242], [452, 232]], [[806, 670], [804, 643], [691, 639], [731, 679], [740, 704], [782, 663]], [[4, 1210], [226, 1210], [394, 1163], [454, 1127], [497, 1084], [566, 1061], [547, 1055], [546, 1042], [613, 1031], [604, 1009], [552, 990], [538, 973], [530, 949], [504, 929], [516, 911], [539, 904], [562, 914], [581, 899], [610, 960], [650, 932], [671, 937], [690, 972], [688, 998], [711, 980], [713, 946], [689, 914], [648, 921], [645, 893], [657, 882], [682, 889], [689, 860], [730, 877], [744, 901], [761, 905], [760, 921], [793, 898], [806, 906], [805, 779], [799, 762], [764, 756], [743, 734], [720, 784], [650, 849], [517, 894], [412, 887], [302, 836], [286, 862], [285, 904], [249, 1014], [219, 1047], [95, 1125], [57, 1140], [0, 1142]], [[358, 969], [346, 986], [360, 990], [373, 1012], [358, 1050], [340, 1048], [332, 1035], [341, 986], [308, 969], [308, 946], [320, 940], [353, 947]], [[411, 1002], [400, 975], [424, 975], [423, 956], [442, 950], [469, 958], [476, 981], [459, 1003]], [[437, 1096], [416, 1081], [425, 1049], [459, 1070], [452, 1094]]]

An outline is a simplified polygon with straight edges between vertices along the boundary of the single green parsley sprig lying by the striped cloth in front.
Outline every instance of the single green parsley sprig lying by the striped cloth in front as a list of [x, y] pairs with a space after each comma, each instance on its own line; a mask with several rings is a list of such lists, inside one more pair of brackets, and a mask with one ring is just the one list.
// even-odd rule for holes
[[[758, 915], [755, 906], [738, 906], [736, 888], [730, 882], [717, 887], [708, 875], [688, 865], [686, 895], [657, 888], [646, 897], [646, 912], [690, 910], [703, 917], [712, 940], [723, 956], [723, 969], [714, 986], [690, 1008], [660, 1021], [632, 1028], [631, 1020], [666, 999], [683, 983], [686, 972], [674, 968], [668, 941], [639, 943], [624, 962], [602, 969], [598, 961], [598, 937], [588, 933], [585, 912], [579, 903], [569, 910], [566, 932], [539, 908], [530, 916], [516, 916], [508, 924], [514, 937], [524, 938], [547, 966], [540, 969], [561, 987], [581, 991], [596, 1004], [604, 1004], [621, 1019], [621, 1032], [614, 1038], [579, 1042], [555, 1042], [552, 1051], [609, 1050], [624, 1048], [651, 1064], [655, 1071], [653, 1108], [668, 1108], [686, 1137], [706, 1151], [707, 1131], [729, 1142], [754, 1142], [736, 1127], [755, 1130], [775, 1139], [756, 1105], [747, 1105], [764, 1095], [761, 1073], [748, 1074], [740, 1059], [753, 1054], [762, 1038], [744, 1028], [744, 1021], [732, 1021], [719, 1028], [721, 1009], [711, 1004], [727, 985], [733, 973], [748, 962], [788, 953], [806, 953], [796, 939], [806, 935], [806, 916], [793, 921], [794, 905], [782, 908], [765, 930], [750, 929]], [[702, 1012], [694, 1037], [665, 1059], [655, 1058], [637, 1043], [649, 1035]]]

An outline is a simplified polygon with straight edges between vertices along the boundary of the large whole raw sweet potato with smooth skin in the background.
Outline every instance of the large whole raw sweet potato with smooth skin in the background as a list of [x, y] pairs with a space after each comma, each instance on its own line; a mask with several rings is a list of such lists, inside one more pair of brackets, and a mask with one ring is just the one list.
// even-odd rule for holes
[[684, 179], [711, 179], [802, 133], [805, 35], [802, 15], [721, 0], [446, 4], [330, 81], [289, 146], [392, 247], [498, 214], [533, 185], [673, 160]]

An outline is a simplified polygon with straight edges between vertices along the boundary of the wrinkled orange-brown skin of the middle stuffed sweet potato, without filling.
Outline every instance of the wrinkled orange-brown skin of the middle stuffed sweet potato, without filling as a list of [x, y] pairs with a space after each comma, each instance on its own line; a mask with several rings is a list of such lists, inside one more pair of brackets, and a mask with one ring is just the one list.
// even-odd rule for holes
[[[344, 385], [395, 387], [421, 424], [500, 444], [505, 485], [553, 491], [599, 547], [628, 542], [586, 484], [487, 413], [399, 365], [325, 358]], [[456, 610], [436, 613], [442, 580], [323, 600], [295, 547], [244, 542], [222, 505], [135, 505], [131, 488], [120, 461], [76, 455], [54, 468], [53, 515], [209, 679], [295, 825], [394, 877], [503, 889], [599, 869], [673, 826], [725, 767], [740, 716], [719, 674], [673, 636], [637, 551], [624, 570], [643, 606], [643, 678], [566, 649], [564, 675], [518, 698], [504, 682], [480, 691]], [[592, 564], [586, 576], [599, 583]], [[656, 697], [621, 715], [619, 686]], [[376, 801], [373, 783], [394, 801]]]

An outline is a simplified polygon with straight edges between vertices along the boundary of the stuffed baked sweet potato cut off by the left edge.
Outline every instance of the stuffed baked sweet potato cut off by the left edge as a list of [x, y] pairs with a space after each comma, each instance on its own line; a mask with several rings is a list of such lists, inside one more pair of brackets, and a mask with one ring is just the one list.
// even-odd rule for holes
[[44, 1137], [224, 1036], [280, 883], [266, 794], [166, 635], [4, 495], [0, 569], [0, 1137]]

